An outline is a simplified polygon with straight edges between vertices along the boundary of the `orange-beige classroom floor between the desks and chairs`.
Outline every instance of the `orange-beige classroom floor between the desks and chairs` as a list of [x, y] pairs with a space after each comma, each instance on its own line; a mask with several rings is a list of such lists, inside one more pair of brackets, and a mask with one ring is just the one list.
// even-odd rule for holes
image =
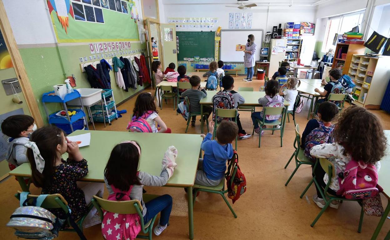
[[[235, 78], [235, 89], [239, 86], [251, 86], [258, 90], [262, 81], [247, 83], [243, 77]], [[152, 89], [145, 91], [154, 92]], [[97, 129], [106, 131], [125, 131], [131, 117], [135, 98], [118, 107], [128, 110], [122, 118], [114, 120], [111, 126], [103, 127], [96, 124]], [[297, 123], [303, 130], [307, 123], [307, 109], [297, 114]], [[173, 133], [184, 133], [186, 122], [181, 116], [176, 116], [172, 102], [163, 105], [159, 111], [161, 118]], [[258, 108], [257, 110], [260, 110]], [[390, 129], [390, 115], [377, 110], [384, 129]], [[240, 112], [243, 128], [252, 132], [250, 113]], [[199, 122], [188, 133], [200, 134]], [[237, 219], [234, 219], [222, 198], [216, 194], [201, 193], [194, 208], [194, 239], [370, 239], [379, 217], [365, 216], [362, 233], [357, 233], [360, 207], [355, 202], [344, 202], [338, 210], [326, 210], [314, 228], [310, 223], [318, 214], [318, 208], [311, 200], [315, 193], [314, 186], [307, 192], [307, 198], [300, 199], [299, 195], [311, 178], [311, 168], [302, 166], [287, 187], [285, 181], [294, 169], [294, 163], [284, 169], [284, 165], [293, 153], [294, 124], [287, 123], [283, 147], [280, 147], [280, 135], [266, 132], [262, 138], [261, 148], [257, 147], [258, 135], [238, 142], [240, 166], [247, 180], [246, 193], [233, 205]], [[369, 143], [368, 143], [369, 144]], [[151, 146], [151, 151], [153, 146]], [[145, 151], [145, 150], [144, 150]], [[180, 167], [180, 166], [179, 166]], [[9, 216], [18, 207], [18, 201], [13, 194], [20, 189], [18, 183], [9, 178], [0, 184], [0, 234], [2, 239], [16, 239], [11, 229], [5, 227]], [[174, 205], [170, 217], [170, 226], [160, 236], [154, 239], [172, 240], [188, 239], [188, 218], [186, 194], [181, 188], [146, 187], [148, 193], [171, 194]], [[39, 189], [32, 189], [39, 193]], [[387, 200], [383, 199], [385, 205]], [[386, 220], [378, 239], [383, 239], [390, 228], [390, 220]], [[103, 239], [100, 226], [85, 229], [88, 239]], [[58, 239], [77, 239], [75, 233], [60, 233]]]

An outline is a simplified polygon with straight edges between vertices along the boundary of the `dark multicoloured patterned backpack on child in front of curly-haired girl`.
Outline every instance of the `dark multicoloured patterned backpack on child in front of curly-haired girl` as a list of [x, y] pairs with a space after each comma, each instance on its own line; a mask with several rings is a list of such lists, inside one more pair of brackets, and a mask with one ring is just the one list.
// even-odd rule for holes
[[334, 126], [330, 125], [329, 127], [326, 127], [324, 126], [323, 121], [318, 121], [318, 125], [319, 127], [312, 130], [305, 139], [305, 150], [303, 155], [312, 161], [316, 161], [316, 158], [310, 155], [310, 150], [312, 147], [324, 143], [333, 143], [333, 138], [331, 135]]

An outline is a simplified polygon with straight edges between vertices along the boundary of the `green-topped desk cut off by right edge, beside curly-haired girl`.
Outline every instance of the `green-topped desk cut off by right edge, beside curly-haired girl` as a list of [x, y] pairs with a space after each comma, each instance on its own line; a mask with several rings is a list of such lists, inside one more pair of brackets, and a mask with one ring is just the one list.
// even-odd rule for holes
[[378, 184], [383, 188], [382, 194], [387, 198], [387, 207], [385, 208], [385, 212], [379, 220], [378, 226], [376, 227], [371, 240], [376, 239], [379, 232], [381, 231], [383, 223], [385, 222], [390, 212], [390, 130], [385, 130], [384, 132], [387, 138], [387, 148], [385, 152], [386, 155], [381, 159], [381, 168], [378, 172]]

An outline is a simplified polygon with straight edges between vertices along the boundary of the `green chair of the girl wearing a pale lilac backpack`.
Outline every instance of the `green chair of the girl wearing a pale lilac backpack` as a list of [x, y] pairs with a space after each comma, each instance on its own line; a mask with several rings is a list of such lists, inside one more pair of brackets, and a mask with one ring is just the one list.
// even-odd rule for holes
[[[266, 123], [265, 117], [263, 120], [257, 119], [257, 123], [259, 123], [260, 133], [259, 133], [259, 147], [261, 142], [261, 130], [272, 130], [272, 134], [275, 130], [280, 130], [280, 147], [283, 146], [283, 128], [284, 128], [284, 111], [286, 107], [264, 107], [264, 116], [266, 115], [282, 115], [280, 121], [275, 120], [272, 123]], [[272, 128], [263, 128], [263, 126], [273, 126]], [[275, 126], [280, 126], [280, 128], [276, 128]], [[255, 126], [253, 126], [252, 135], [255, 133]]]

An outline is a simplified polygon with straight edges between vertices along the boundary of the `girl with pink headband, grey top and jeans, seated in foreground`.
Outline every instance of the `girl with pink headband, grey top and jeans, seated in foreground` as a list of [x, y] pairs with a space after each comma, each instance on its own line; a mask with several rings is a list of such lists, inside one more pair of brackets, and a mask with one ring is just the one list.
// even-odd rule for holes
[[[169, 147], [167, 152], [171, 150], [176, 152], [175, 155], [177, 155], [177, 150], [173, 146]], [[164, 194], [145, 203], [142, 199], [142, 190], [144, 186], [164, 186], [167, 184], [168, 179], [173, 174], [174, 167], [168, 167], [169, 169], [163, 168], [160, 176], [150, 175], [149, 173], [138, 171], [140, 156], [141, 148], [135, 141], [125, 141], [116, 145], [112, 149], [104, 170], [104, 181], [109, 194], [114, 193], [112, 187], [119, 191], [129, 191], [132, 186], [129, 194], [130, 199], [140, 201], [145, 224], [161, 212], [160, 221], [153, 231], [155, 235], [160, 235], [167, 228], [169, 222], [172, 210], [172, 197]], [[173, 157], [176, 158], [176, 156]]]

